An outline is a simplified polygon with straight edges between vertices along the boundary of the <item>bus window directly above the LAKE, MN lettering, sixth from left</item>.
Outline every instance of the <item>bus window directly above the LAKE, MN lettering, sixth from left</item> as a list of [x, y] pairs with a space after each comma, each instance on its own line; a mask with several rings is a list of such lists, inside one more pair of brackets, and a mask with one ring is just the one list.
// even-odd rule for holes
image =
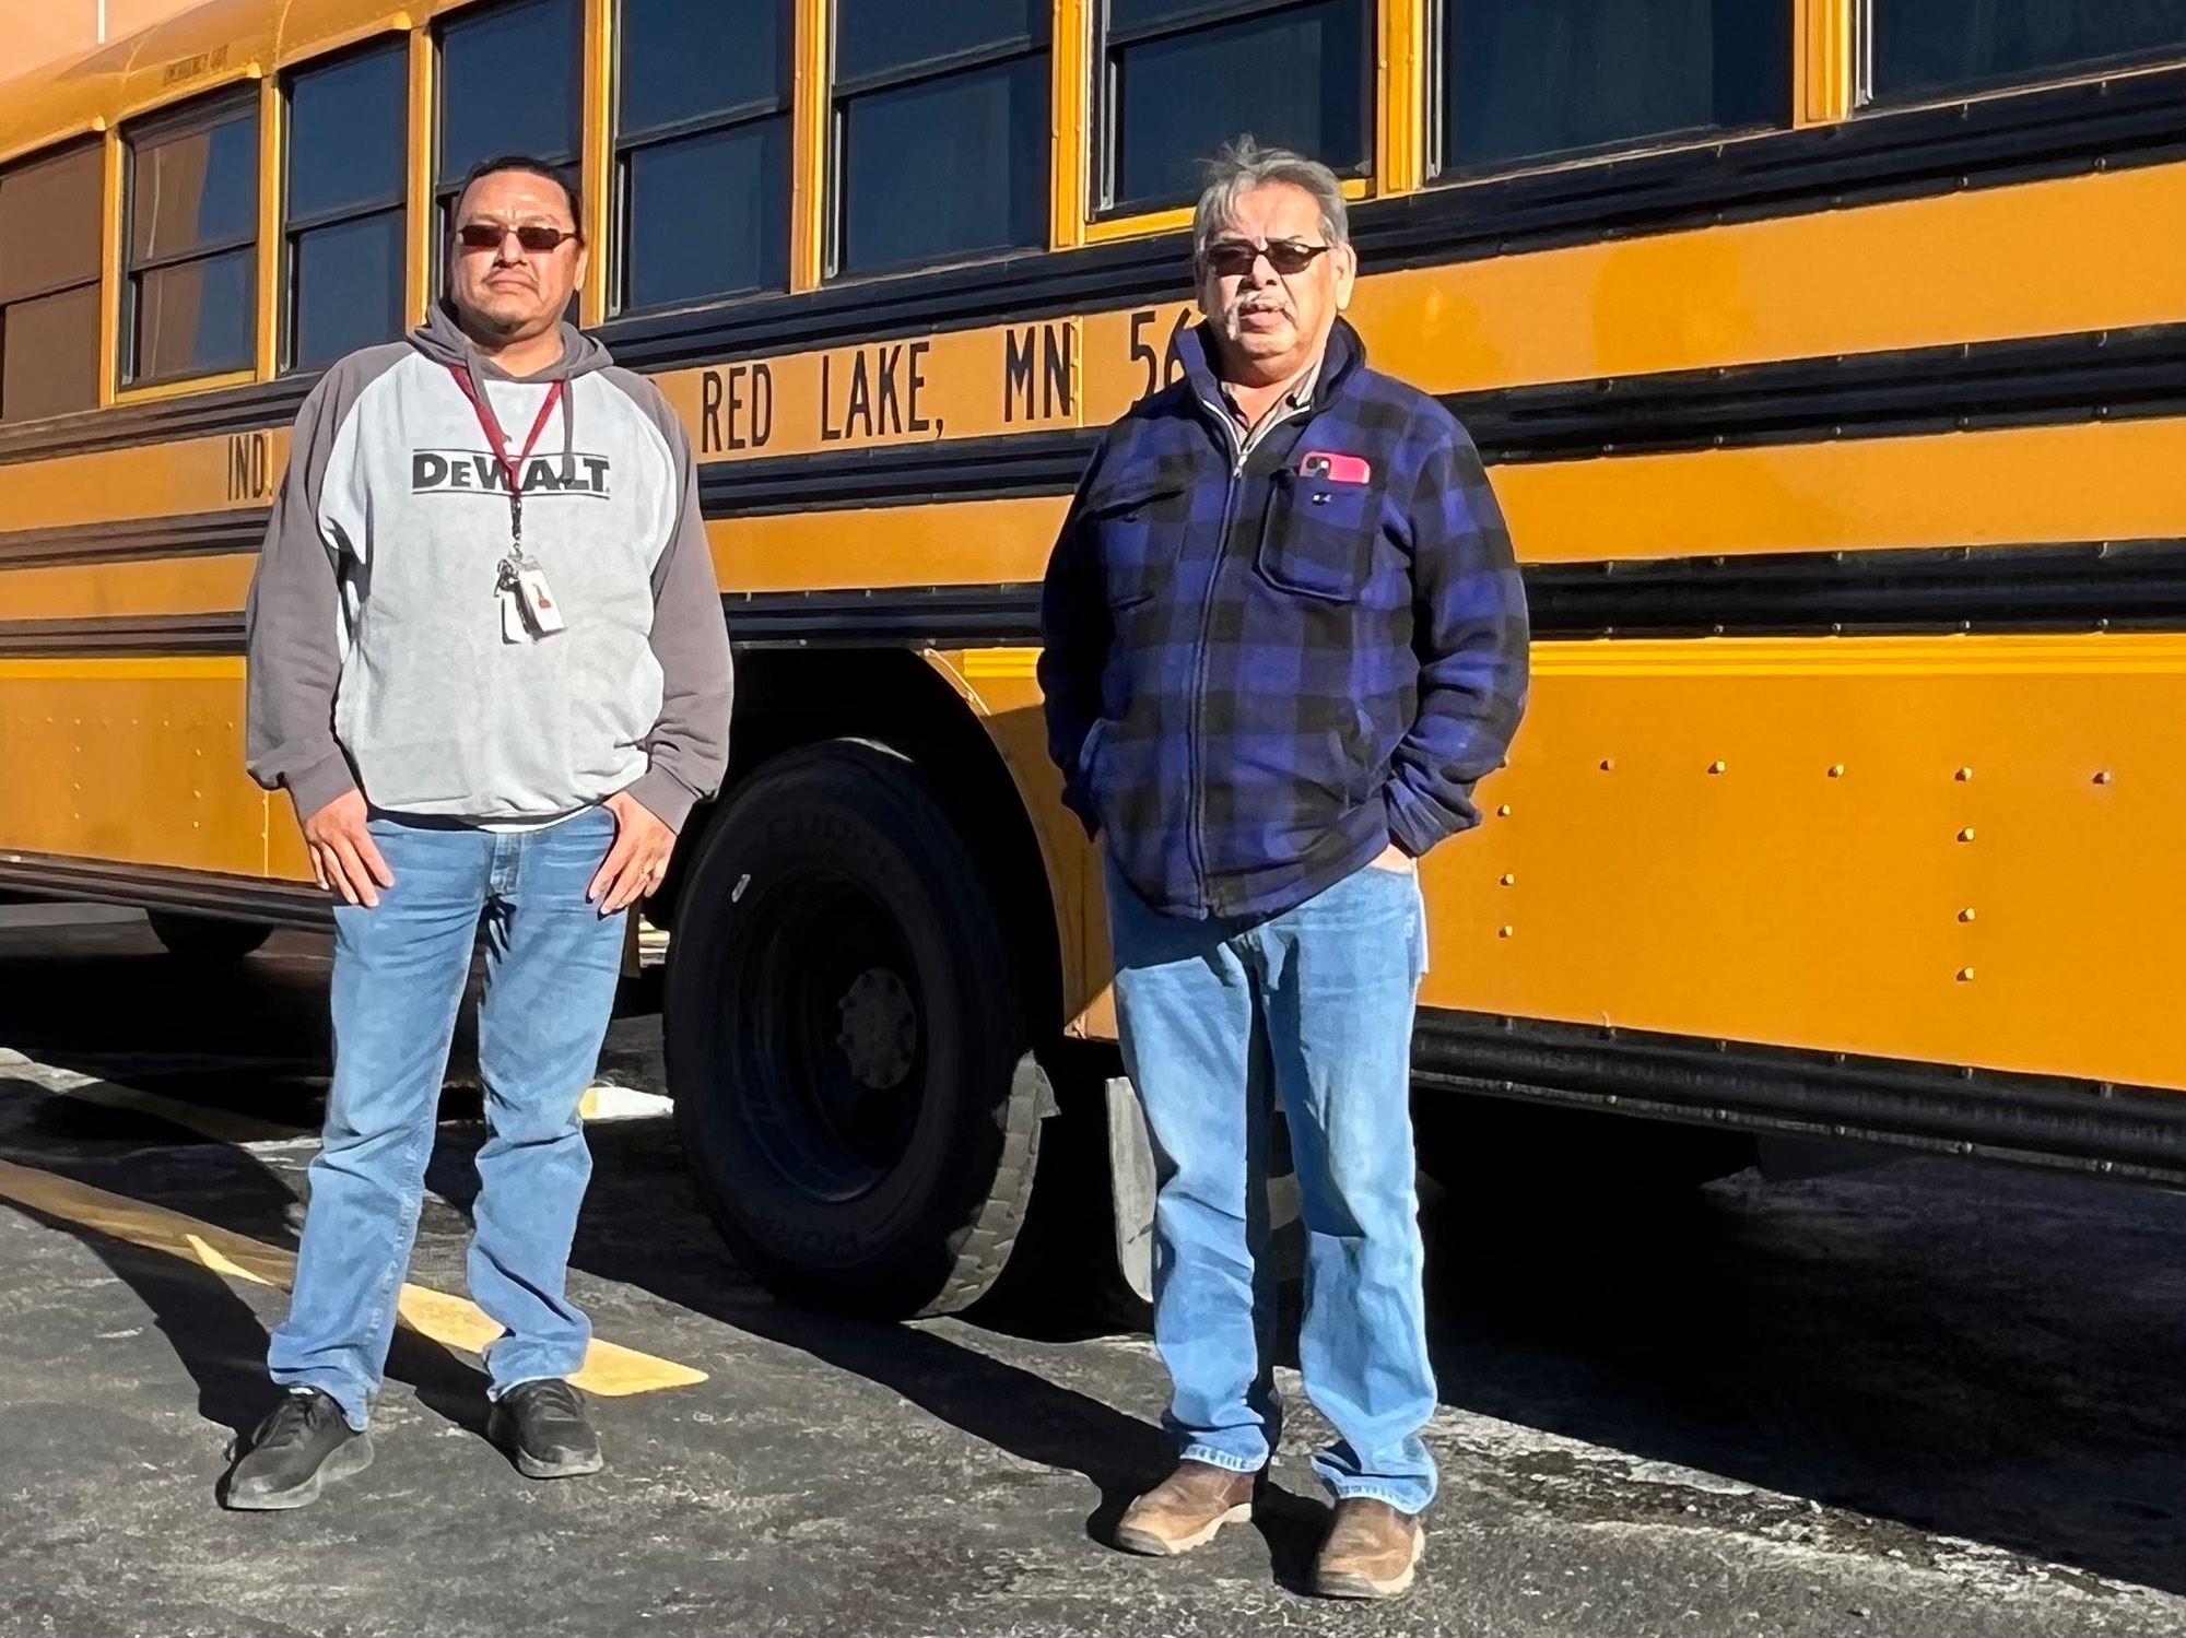
[[837, 273], [1047, 242], [1047, 0], [842, 0]]

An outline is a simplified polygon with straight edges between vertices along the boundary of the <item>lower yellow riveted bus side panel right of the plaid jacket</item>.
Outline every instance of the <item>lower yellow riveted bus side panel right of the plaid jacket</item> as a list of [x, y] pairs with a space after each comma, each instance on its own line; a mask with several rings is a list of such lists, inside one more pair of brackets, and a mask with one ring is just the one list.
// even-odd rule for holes
[[2186, 640], [1546, 642], [1434, 1007], [2186, 1088]]

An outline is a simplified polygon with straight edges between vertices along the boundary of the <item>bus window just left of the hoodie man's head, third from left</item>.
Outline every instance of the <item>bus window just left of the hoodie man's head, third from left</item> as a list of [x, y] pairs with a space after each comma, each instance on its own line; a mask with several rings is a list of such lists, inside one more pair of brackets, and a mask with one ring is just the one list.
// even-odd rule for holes
[[291, 369], [402, 334], [407, 107], [400, 39], [289, 76]]

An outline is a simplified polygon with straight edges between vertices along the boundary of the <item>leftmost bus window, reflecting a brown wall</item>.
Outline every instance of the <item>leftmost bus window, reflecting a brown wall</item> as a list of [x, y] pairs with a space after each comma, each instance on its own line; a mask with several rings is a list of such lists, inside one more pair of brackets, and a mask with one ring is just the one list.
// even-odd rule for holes
[[0, 422], [98, 404], [98, 144], [0, 173]]

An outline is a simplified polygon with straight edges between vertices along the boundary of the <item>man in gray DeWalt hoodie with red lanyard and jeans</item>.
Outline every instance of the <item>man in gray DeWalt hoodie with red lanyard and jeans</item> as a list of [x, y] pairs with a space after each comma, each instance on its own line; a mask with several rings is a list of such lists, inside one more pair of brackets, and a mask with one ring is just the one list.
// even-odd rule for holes
[[249, 601], [249, 769], [295, 802], [334, 906], [334, 1081], [282, 1402], [227, 1505], [302, 1507], [372, 1461], [448, 1042], [485, 926], [470, 1291], [503, 1328], [487, 1431], [531, 1479], [597, 1472], [564, 1291], [577, 1103], [623, 919], [721, 784], [730, 657], [682, 424], [564, 323], [575, 190], [490, 159], [448, 299], [297, 415]]

